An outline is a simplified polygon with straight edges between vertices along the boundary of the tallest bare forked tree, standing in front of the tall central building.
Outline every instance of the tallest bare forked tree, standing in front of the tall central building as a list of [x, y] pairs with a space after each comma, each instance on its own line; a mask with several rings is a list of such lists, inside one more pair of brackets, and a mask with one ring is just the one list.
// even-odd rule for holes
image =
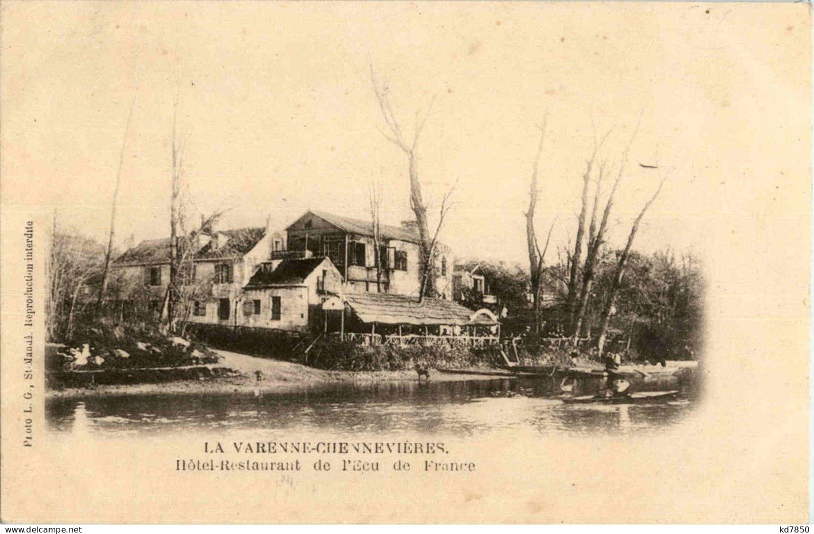
[[[430, 235], [430, 227], [427, 222], [427, 205], [424, 203], [422, 198], [421, 181], [418, 179], [418, 139], [421, 137], [421, 132], [424, 125], [427, 124], [427, 116], [430, 114], [435, 97], [431, 99], [430, 105], [427, 107], [427, 111], [425, 113], [422, 114], [420, 111], [416, 111], [413, 137], [412, 139], [409, 139], [405, 136], [405, 133], [402, 131], [400, 124], [396, 119], [396, 115], [393, 113], [390, 98], [387, 95], [387, 85], [379, 85], [379, 81], [376, 80], [376, 75], [372, 64], [370, 65], [370, 81], [373, 84], [373, 90], [376, 94], [376, 99], [379, 102], [379, 108], [382, 111], [384, 124], [387, 126], [387, 131], [382, 131], [382, 135], [387, 139], [387, 141], [390, 141], [399, 147], [407, 157], [410, 188], [409, 204], [410, 209], [413, 210], [415, 215], [415, 222], [418, 226], [418, 237], [421, 241], [422, 283], [418, 295], [418, 299], [420, 301], [424, 297], [425, 293], [429, 293], [432, 296], [435, 295], [433, 280], [431, 276], [428, 276], [428, 273], [433, 269], [433, 250], [435, 237], [437, 237], [438, 232], [436, 230], [435, 237]], [[451, 191], [449, 193], [451, 193]], [[449, 197], [449, 193], [444, 196], [444, 199]], [[442, 202], [440, 217], [441, 221], [444, 220], [444, 215], [446, 215], [446, 213], [444, 212], [444, 203]], [[440, 224], [438, 229], [440, 229]]]

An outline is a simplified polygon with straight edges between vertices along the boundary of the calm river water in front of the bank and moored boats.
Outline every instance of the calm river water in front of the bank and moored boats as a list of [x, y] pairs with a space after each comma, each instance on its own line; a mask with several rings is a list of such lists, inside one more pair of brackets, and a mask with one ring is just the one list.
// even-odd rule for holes
[[[289, 393], [172, 394], [55, 398], [53, 432], [132, 434], [268, 431], [475, 436], [523, 429], [540, 435], [650, 432], [681, 424], [698, 409], [698, 384], [673, 377], [632, 380], [631, 391], [678, 389], [668, 402], [577, 405], [562, 402], [557, 378], [330, 384]], [[582, 379], [575, 393], [592, 393]]]

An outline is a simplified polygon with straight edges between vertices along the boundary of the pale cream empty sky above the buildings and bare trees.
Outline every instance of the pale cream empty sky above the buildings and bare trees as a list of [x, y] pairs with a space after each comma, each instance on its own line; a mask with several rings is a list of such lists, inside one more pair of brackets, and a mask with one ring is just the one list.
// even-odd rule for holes
[[609, 246], [624, 245], [667, 174], [634, 248], [703, 250], [737, 206], [800, 193], [747, 186], [806, 168], [785, 141], [808, 119], [788, 105], [810, 99], [793, 61], [809, 57], [808, 22], [790, 9], [767, 23], [761, 9], [11, 2], [3, 194], [11, 203], [34, 194], [59, 225], [103, 241], [124, 142], [116, 245], [168, 235], [177, 97], [190, 209], [230, 208], [221, 228], [270, 216], [282, 229], [309, 208], [367, 219], [373, 180], [383, 221], [399, 224], [412, 217], [407, 161], [383, 137], [372, 65], [408, 136], [432, 102], [419, 176], [431, 225], [457, 183], [442, 231], [457, 256], [527, 262], [524, 212], [544, 121], [536, 225], [545, 234], [554, 222], [549, 262], [574, 235], [593, 139], [609, 130], [599, 152], [609, 169], [632, 139]]

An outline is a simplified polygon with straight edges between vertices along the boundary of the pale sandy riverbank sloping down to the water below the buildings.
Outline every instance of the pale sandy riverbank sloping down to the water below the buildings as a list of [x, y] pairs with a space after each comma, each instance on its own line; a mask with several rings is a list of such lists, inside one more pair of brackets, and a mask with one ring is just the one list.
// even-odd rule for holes
[[[246, 354], [217, 350], [222, 357], [211, 369], [236, 371], [233, 376], [212, 377], [198, 380], [175, 380], [158, 384], [95, 385], [84, 388], [51, 389], [47, 398], [88, 397], [92, 395], [155, 395], [196, 393], [287, 393], [297, 389], [318, 387], [323, 384], [365, 383], [375, 381], [418, 381], [415, 371], [324, 371], [300, 363], [283, 362], [269, 358], [257, 358]], [[256, 380], [260, 371], [263, 380]], [[497, 376], [444, 374], [430, 371], [434, 382], [461, 380], [494, 380]]]

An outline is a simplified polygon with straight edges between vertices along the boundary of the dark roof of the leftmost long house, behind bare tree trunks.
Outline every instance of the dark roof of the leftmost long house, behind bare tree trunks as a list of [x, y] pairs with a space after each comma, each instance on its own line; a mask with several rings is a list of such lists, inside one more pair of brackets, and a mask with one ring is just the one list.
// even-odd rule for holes
[[[193, 259], [219, 259], [235, 258], [247, 254], [257, 242], [265, 236], [265, 228], [236, 228], [234, 230], [217, 230], [213, 234], [224, 234], [228, 239], [219, 248], [212, 250], [212, 242], [201, 247]], [[187, 238], [188, 239], [188, 238]], [[155, 263], [169, 263], [169, 238], [148, 239], [121, 254], [113, 262], [119, 266], [150, 265]]]

